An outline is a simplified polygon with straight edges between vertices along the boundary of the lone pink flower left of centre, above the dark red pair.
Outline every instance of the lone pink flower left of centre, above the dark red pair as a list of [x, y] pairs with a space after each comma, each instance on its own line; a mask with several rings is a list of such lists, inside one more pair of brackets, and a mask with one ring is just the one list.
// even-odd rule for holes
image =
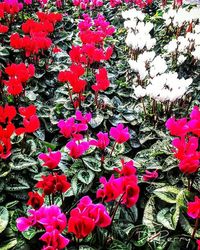
[[49, 169], [54, 169], [58, 166], [61, 160], [61, 152], [56, 151], [52, 152], [51, 149], [48, 149], [49, 153], [39, 154], [38, 158], [44, 161], [44, 164], [42, 166], [47, 166]]

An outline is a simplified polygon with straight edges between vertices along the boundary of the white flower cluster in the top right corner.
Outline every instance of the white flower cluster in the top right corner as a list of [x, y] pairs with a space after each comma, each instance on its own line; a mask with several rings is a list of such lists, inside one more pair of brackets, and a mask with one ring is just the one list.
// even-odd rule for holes
[[163, 19], [165, 24], [181, 27], [186, 23], [191, 23], [192, 21], [198, 20], [200, 17], [200, 8], [194, 7], [191, 9], [178, 8], [173, 9], [172, 7], [168, 9], [163, 14]]

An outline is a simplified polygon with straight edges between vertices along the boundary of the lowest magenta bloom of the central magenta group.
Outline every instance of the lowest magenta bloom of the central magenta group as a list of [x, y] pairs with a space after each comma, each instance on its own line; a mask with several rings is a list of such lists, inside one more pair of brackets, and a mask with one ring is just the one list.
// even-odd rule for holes
[[88, 150], [89, 148], [89, 143], [88, 142], [81, 142], [79, 144], [76, 143], [76, 141], [72, 140], [67, 143], [66, 147], [70, 150], [69, 155], [77, 159], [81, 155], [85, 153], [85, 151]]

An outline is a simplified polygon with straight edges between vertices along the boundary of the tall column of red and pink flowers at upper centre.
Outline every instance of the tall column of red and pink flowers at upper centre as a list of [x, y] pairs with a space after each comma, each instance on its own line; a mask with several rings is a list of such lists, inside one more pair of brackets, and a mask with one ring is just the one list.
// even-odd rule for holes
[[[71, 102], [75, 107], [81, 104], [83, 92], [87, 82], [80, 77], [84, 75], [85, 68], [87, 71], [93, 63], [100, 63], [109, 60], [113, 49], [112, 47], [104, 48], [105, 39], [115, 31], [115, 28], [105, 20], [105, 17], [98, 14], [96, 19], [92, 19], [88, 14], [83, 15], [83, 20], [80, 21], [78, 28], [80, 30], [79, 37], [82, 45], [72, 46], [69, 52], [72, 65], [69, 70], [59, 73], [58, 80], [60, 82], [70, 83], [73, 93], [78, 93], [78, 100], [73, 101], [71, 90], [68, 86]], [[95, 91], [106, 90], [110, 85], [108, 74], [105, 68], [100, 68], [96, 74], [96, 85], [92, 86]], [[96, 102], [97, 103], [97, 102]]]

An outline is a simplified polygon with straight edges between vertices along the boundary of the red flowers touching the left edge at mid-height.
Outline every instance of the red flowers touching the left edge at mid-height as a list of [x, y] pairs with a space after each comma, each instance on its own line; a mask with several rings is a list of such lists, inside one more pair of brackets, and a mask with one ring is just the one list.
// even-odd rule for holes
[[[39, 119], [36, 114], [32, 115], [29, 112], [32, 106], [27, 108], [19, 108], [19, 113], [21, 110], [27, 109], [27, 116], [23, 119], [24, 127], [15, 128], [12, 120], [17, 115], [16, 108], [14, 106], [6, 105], [5, 107], [0, 106], [0, 158], [6, 159], [11, 155], [11, 136], [16, 133], [17, 135], [21, 133], [32, 133], [35, 132], [40, 124]], [[35, 112], [36, 108], [34, 107]]]

